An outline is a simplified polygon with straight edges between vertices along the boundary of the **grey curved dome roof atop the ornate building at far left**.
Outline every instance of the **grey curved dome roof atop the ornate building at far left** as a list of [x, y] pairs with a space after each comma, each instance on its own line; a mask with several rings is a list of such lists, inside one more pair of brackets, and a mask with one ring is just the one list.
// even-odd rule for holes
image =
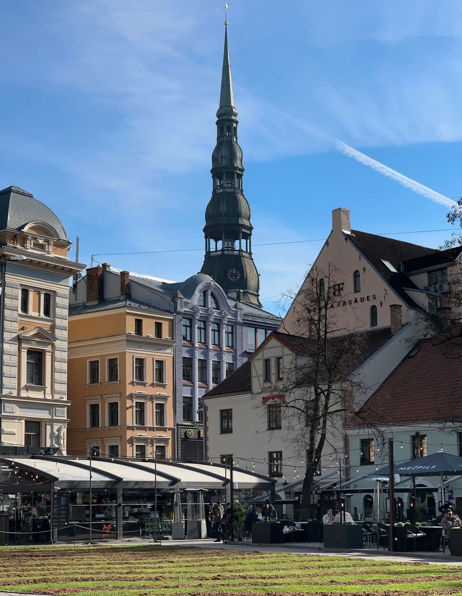
[[29, 224], [45, 224], [50, 236], [67, 241], [66, 230], [58, 217], [41, 201], [21, 188], [11, 186], [0, 191], [0, 229], [23, 231]]

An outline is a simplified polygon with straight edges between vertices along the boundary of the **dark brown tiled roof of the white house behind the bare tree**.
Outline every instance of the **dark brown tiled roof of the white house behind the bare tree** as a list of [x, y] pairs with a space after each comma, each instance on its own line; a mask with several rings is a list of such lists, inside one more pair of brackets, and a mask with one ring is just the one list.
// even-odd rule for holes
[[[263, 344], [269, 342], [271, 337], [278, 339], [296, 354], [306, 354], [309, 352], [309, 343], [311, 342], [309, 338], [272, 331], [265, 342], [263, 342], [259, 349], [254, 352], [254, 355], [261, 349]], [[374, 352], [385, 345], [391, 337], [392, 333], [390, 327], [356, 333], [355, 338], [358, 339], [358, 341], [350, 344], [351, 350], [348, 353], [349, 360], [346, 363], [345, 368], [353, 373], [356, 368], [373, 355]], [[351, 336], [348, 338], [346, 336], [331, 338], [329, 342], [333, 352], [337, 348], [341, 349], [345, 341], [351, 342]], [[252, 391], [251, 362], [252, 358], [239, 367], [237, 371], [232, 373], [228, 378], [225, 378], [225, 380], [216, 387], [213, 387], [213, 389], [210, 390], [209, 393], [206, 393], [204, 397], [230, 395], [233, 393], [250, 393]]]

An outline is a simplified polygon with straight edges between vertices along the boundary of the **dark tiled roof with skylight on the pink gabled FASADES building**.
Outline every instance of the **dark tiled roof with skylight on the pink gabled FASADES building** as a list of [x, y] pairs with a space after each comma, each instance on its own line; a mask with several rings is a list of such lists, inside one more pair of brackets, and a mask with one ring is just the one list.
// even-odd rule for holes
[[[407, 305], [411, 308], [418, 308], [414, 300], [403, 290], [403, 288], [417, 289], [417, 285], [401, 272], [401, 262], [434, 254], [435, 249], [358, 230], [352, 230], [351, 234], [345, 234], [345, 236], [370, 260]], [[382, 259], [389, 261], [397, 273], [390, 271]]]

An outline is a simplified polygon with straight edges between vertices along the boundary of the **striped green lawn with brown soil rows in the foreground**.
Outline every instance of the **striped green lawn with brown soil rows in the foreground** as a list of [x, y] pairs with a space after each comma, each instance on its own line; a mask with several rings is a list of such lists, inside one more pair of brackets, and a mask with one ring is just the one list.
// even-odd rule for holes
[[462, 566], [185, 547], [0, 547], [0, 591], [462, 596]]

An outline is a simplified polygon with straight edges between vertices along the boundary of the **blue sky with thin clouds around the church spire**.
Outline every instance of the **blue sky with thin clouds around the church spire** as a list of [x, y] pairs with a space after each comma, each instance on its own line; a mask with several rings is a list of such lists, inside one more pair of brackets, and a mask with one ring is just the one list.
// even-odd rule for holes
[[[462, 194], [460, 1], [228, 5], [265, 308], [322, 243], [255, 245], [325, 238], [336, 207], [378, 234], [449, 228]], [[82, 262], [200, 249], [96, 257], [175, 281], [199, 271], [224, 2], [22, 0], [0, 14], [1, 188], [54, 209]], [[449, 234], [396, 237], [436, 247]]]

